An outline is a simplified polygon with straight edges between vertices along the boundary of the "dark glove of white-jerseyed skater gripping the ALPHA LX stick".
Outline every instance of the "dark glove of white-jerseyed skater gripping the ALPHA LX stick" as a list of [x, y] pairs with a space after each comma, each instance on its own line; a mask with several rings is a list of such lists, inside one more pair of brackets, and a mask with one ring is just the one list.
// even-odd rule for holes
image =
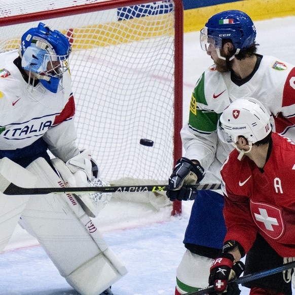
[[180, 158], [169, 177], [167, 197], [170, 201], [194, 200], [198, 191], [187, 185], [195, 185], [204, 175], [204, 168], [200, 164], [195, 164], [188, 158]]

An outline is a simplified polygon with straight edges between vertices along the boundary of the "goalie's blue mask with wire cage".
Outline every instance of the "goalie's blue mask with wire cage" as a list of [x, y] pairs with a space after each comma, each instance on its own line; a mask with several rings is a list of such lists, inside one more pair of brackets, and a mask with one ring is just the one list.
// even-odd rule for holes
[[59, 81], [68, 70], [70, 51], [66, 36], [42, 22], [22, 35], [19, 47], [22, 68], [53, 93], [57, 92]]

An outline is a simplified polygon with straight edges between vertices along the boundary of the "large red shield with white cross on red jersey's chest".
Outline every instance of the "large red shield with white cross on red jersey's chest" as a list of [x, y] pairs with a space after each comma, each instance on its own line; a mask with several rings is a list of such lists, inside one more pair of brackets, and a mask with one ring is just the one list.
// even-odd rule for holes
[[252, 218], [264, 233], [272, 239], [279, 239], [285, 232], [282, 210], [274, 205], [250, 201]]

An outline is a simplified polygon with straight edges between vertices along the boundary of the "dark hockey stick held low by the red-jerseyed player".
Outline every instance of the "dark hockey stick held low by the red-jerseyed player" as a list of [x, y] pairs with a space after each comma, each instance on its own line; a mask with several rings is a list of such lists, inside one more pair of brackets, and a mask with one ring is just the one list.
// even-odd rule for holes
[[[260, 279], [260, 278], [264, 278], [264, 277], [267, 277], [270, 275], [281, 273], [281, 272], [291, 269], [291, 268], [295, 268], [295, 261], [286, 263], [283, 266], [280, 266], [277, 268], [256, 272], [254, 274], [248, 274], [248, 275], [242, 276], [240, 278], [235, 278], [235, 279], [229, 281], [229, 283], [237, 282], [238, 284], [244, 284], [244, 283], [256, 280], [256, 279]], [[214, 291], [214, 286], [208, 286], [208, 287], [203, 288], [203, 289], [196, 291], [196, 292], [186, 293], [186, 295], [205, 295], [205, 294], [208, 294], [208, 292], [212, 292], [212, 291]]]

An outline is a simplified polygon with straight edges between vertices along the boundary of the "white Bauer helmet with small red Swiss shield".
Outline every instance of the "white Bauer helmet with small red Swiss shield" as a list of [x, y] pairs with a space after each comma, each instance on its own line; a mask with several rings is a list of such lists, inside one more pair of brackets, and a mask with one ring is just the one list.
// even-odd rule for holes
[[255, 98], [245, 97], [232, 102], [220, 116], [217, 126], [218, 137], [226, 143], [235, 143], [244, 136], [251, 147], [265, 138], [272, 130], [270, 114]]

